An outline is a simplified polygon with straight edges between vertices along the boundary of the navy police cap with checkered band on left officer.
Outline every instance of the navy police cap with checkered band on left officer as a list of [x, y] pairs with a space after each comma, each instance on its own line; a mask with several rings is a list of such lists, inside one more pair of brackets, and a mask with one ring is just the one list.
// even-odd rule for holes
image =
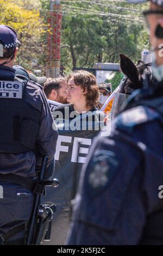
[[2, 41], [4, 48], [15, 47], [17, 43], [20, 44], [14, 29], [5, 25], [0, 25], [0, 40]]

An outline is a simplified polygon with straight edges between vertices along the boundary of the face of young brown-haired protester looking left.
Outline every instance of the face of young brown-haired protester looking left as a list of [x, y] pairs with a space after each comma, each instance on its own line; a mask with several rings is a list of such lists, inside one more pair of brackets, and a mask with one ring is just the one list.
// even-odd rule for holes
[[67, 101], [73, 104], [77, 104], [78, 102], [85, 100], [83, 88], [80, 86], [76, 86], [74, 83], [73, 77], [67, 83]]

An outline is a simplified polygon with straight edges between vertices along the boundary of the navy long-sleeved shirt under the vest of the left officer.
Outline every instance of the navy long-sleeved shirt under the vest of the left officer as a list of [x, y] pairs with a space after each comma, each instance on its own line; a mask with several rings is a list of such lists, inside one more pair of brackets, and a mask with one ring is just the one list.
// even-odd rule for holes
[[[0, 81], [3, 80], [14, 81], [15, 70], [7, 66], [0, 66]], [[45, 94], [37, 84], [33, 82], [27, 83], [25, 99], [31, 109], [40, 111], [39, 130], [37, 132], [35, 149], [19, 154], [0, 153], [0, 173], [16, 173], [26, 177], [34, 177], [35, 167], [41, 167], [43, 156], [47, 155], [49, 157], [48, 165], [54, 159], [58, 132], [55, 129]], [[6, 113], [6, 118], [8, 118], [8, 112], [11, 112], [11, 110], [11, 108], [1, 109], [1, 111]]]

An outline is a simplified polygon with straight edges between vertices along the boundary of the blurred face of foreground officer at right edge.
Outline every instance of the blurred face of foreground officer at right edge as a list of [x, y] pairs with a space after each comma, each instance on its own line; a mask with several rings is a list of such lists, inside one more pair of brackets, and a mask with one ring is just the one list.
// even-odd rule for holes
[[[160, 8], [160, 7], [158, 7], [158, 5], [151, 3], [149, 10], [162, 10], [163, 11], [163, 8]], [[155, 36], [156, 27], [158, 26], [158, 24], [160, 24], [161, 27], [163, 27], [163, 14], [149, 14], [146, 16], [146, 20], [147, 20], [148, 28], [149, 28], [149, 32], [150, 32], [151, 46], [152, 46], [152, 48], [157, 48], [157, 47], [159, 47], [160, 44], [163, 44], [163, 39], [158, 39]], [[156, 63], [158, 65], [161, 65], [163, 63], [163, 59], [162, 59], [162, 56], [160, 57], [159, 52], [160, 52], [159, 50], [155, 51], [155, 57], [156, 57]]]

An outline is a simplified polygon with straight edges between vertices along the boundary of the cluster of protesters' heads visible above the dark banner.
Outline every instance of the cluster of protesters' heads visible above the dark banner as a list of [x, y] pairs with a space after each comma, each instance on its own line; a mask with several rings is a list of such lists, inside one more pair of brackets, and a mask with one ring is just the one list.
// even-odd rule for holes
[[72, 72], [68, 77], [48, 78], [43, 91], [48, 100], [62, 104], [70, 103], [71, 111], [82, 113], [101, 109], [111, 95], [111, 83], [97, 84], [93, 74], [79, 70]]

